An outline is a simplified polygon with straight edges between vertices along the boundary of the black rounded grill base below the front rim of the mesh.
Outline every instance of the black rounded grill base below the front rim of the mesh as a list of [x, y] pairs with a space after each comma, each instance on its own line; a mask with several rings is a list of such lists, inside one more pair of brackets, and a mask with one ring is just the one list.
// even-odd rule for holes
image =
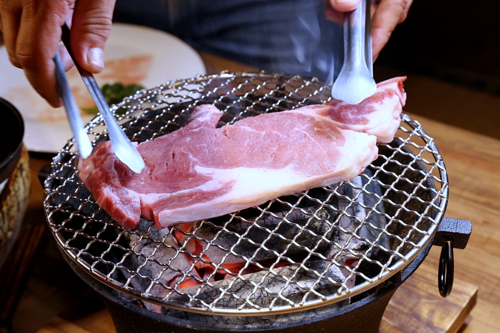
[[[423, 261], [429, 249], [430, 244], [413, 261], [413, 264], [416, 265], [412, 267], [411, 273]], [[207, 317], [210, 316], [201, 315], [197, 321], [179, 319], [160, 315], [124, 301], [111, 288], [85, 273], [64, 253], [63, 257], [76, 275], [101, 296], [103, 303], [111, 314], [117, 333], [377, 333], [385, 307], [397, 287], [402, 283], [400, 279], [401, 275], [397, 274], [393, 278], [365, 292], [366, 296], [359, 301], [343, 307], [337, 307], [331, 312], [323, 311], [322, 315], [311, 316], [306, 320], [280, 321], [280, 323], [276, 324], [272, 321], [273, 316], [266, 316], [266, 320], [261, 324], [214, 325], [207, 320]], [[240, 322], [238, 318], [235, 317], [234, 322]]]

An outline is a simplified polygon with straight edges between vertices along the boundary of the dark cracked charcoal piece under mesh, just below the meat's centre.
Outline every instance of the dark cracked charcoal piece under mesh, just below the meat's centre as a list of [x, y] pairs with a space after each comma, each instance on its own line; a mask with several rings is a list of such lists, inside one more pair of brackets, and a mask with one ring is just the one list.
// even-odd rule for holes
[[[327, 232], [331, 227], [330, 221], [334, 221], [332, 214], [326, 209], [317, 211], [319, 206], [303, 208], [306, 213], [295, 209], [288, 215], [286, 214], [289, 211], [289, 207], [286, 207], [286, 209], [283, 207], [280, 208], [282, 209], [269, 210], [259, 218], [257, 216], [246, 217], [245, 219], [248, 222], [235, 218], [229, 224], [225, 225], [227, 231], [222, 230], [223, 224], [214, 224], [215, 226], [213, 226], [211, 223], [204, 222], [200, 225], [201, 222], [197, 222], [193, 225], [193, 234], [198, 238], [211, 241], [212, 243], [208, 247], [208, 243], [203, 240], [199, 241], [195, 238], [188, 239], [188, 237], [185, 237], [184, 240], [187, 240], [186, 251], [195, 254], [196, 251], [199, 251], [196, 249], [200, 249], [201, 247], [205, 250], [203, 254], [206, 258], [213, 263], [219, 264], [222, 258], [229, 253], [229, 249], [244, 235], [245, 239], [241, 239], [232, 249], [232, 252], [236, 255], [229, 253], [224, 260], [225, 265], [246, 262], [244, 258], [237, 255], [246, 259], [253, 257], [253, 261], [262, 261], [276, 258], [282, 253], [288, 258], [299, 260], [314, 248], [316, 248], [316, 252], [323, 251], [326, 254], [328, 244], [323, 241], [319, 242], [319, 237], [325, 234], [326, 237], [329, 237], [329, 233]], [[312, 214], [315, 214], [317, 218]], [[309, 219], [310, 221], [307, 223]], [[307, 226], [304, 230], [295, 238], [294, 242], [296, 244], [293, 244], [293, 238], [306, 224]], [[183, 241], [180, 243], [183, 243]], [[263, 249], [260, 246], [261, 244], [267, 250]], [[286, 249], [287, 247], [288, 249]]]

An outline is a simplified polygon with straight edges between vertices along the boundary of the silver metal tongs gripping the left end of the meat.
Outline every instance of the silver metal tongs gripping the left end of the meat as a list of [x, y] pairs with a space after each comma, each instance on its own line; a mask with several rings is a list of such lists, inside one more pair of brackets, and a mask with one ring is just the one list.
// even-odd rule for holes
[[[109, 110], [109, 106], [107, 105], [107, 102], [102, 95], [102, 92], [100, 91], [100, 88], [97, 85], [97, 82], [95, 81], [93, 75], [81, 68], [74, 58], [73, 52], [71, 51], [71, 45], [69, 44], [69, 27], [66, 23], [64, 23], [64, 25], [62, 26], [61, 39], [64, 43], [64, 46], [66, 46], [71, 59], [73, 59], [74, 65], [76, 69], [78, 69], [83, 82], [90, 92], [90, 95], [92, 96], [95, 105], [97, 106], [97, 109], [102, 116], [102, 119], [104, 119], [104, 123], [106, 124], [107, 131], [109, 133], [109, 140], [111, 141], [114, 154], [121, 162], [129, 167], [130, 170], [135, 173], [140, 173], [145, 166], [144, 160], [142, 159], [142, 156], [140, 156], [135, 146], [125, 135], [120, 125], [118, 124], [118, 121], [116, 120], [116, 118], [114, 118], [112, 112]], [[71, 95], [71, 91], [69, 90], [64, 68], [62, 67], [62, 62], [58, 53], [54, 58], [54, 62], [56, 64], [56, 79], [59, 95], [62, 97], [66, 112], [68, 113], [71, 128], [78, 145], [78, 152], [81, 157], [86, 158], [91, 152], [91, 147], [90, 151], [88, 151], [90, 142], [88, 141], [88, 136], [83, 131], [83, 124], [79, 115], [79, 110], [76, 106], [73, 96]], [[86, 138], [83, 137], [82, 133]]]

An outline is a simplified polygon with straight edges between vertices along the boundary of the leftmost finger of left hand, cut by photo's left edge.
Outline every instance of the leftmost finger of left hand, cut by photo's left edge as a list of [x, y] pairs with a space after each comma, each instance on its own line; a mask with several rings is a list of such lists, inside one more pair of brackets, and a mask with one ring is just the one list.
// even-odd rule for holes
[[3, 42], [7, 49], [7, 54], [10, 62], [16, 66], [21, 67], [17, 57], [15, 56], [15, 40], [19, 28], [19, 21], [21, 17], [20, 5], [9, 6], [9, 4], [1, 4], [1, 31], [3, 33]]

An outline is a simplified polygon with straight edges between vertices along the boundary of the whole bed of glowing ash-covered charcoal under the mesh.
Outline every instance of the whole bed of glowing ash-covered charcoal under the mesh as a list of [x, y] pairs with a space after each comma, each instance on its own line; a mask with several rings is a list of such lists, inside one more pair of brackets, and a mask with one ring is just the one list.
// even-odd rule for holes
[[[372, 177], [369, 170], [363, 173], [370, 178]], [[239, 212], [229, 222], [225, 216], [194, 222], [191, 225], [184, 224], [171, 231], [168, 229], [158, 231], [149, 223], [141, 221], [136, 233], [140, 235], [149, 228], [147, 236], [155, 241], [141, 239], [138, 244], [134, 245], [139, 236], [132, 233], [129, 238], [130, 246], [134, 245], [134, 251], [148, 257], [149, 261], [144, 265], [145, 259], [140, 256], [133, 256], [131, 261], [134, 262], [135, 268], [142, 266], [139, 273], [143, 276], [157, 278], [160, 276], [159, 273], [163, 271], [156, 281], [175, 288], [183, 295], [168, 291], [157, 284], [150, 289], [150, 294], [166, 298], [167, 302], [177, 304], [179, 302], [187, 304], [192, 300], [191, 306], [195, 307], [201, 306], [201, 302], [210, 304], [215, 301], [220, 296], [221, 289], [226, 290], [226, 294], [217, 301], [216, 307], [224, 309], [248, 307], [249, 305], [243, 301], [244, 299], [259, 307], [268, 307], [274, 299], [274, 307], [287, 305], [288, 302], [298, 304], [304, 297], [306, 301], [319, 299], [320, 297], [310, 292], [310, 289], [325, 296], [335, 294], [339, 292], [341, 284], [352, 287], [355, 276], [346, 281], [345, 277], [349, 272], [342, 271], [329, 261], [315, 260], [314, 258], [321, 256], [335, 258], [336, 263], [349, 266], [355, 264], [355, 261], [365, 254], [372, 242], [376, 242], [384, 249], [389, 249], [388, 238], [381, 233], [381, 230], [386, 226], [386, 221], [384, 216], [380, 216], [384, 212], [383, 205], [377, 205], [378, 199], [382, 195], [380, 186], [373, 180], [367, 184], [367, 178], [364, 176], [356, 177], [351, 183], [358, 189], [349, 184], [343, 184], [336, 189], [340, 195], [335, 194], [329, 201], [332, 207], [336, 207], [338, 211], [346, 211], [348, 215], [352, 216], [351, 218], [346, 215], [339, 216], [339, 213], [334, 209], [327, 208], [328, 206], [321, 208], [316, 202], [308, 200], [301, 202], [291, 212], [290, 206], [275, 201], [263, 212], [250, 208]], [[330, 188], [335, 189], [337, 185], [331, 185]], [[365, 186], [365, 191], [359, 189], [363, 186]], [[342, 196], [345, 197], [342, 198]], [[354, 198], [356, 198], [354, 204], [347, 208], [349, 202]], [[308, 203], [312, 204], [308, 205]], [[379, 214], [362, 208], [360, 204], [375, 209]], [[360, 225], [360, 221], [362, 221], [362, 225]], [[183, 230], [182, 233], [175, 231], [177, 229]], [[355, 237], [349, 240], [349, 233], [354, 232], [361, 240]], [[172, 233], [175, 237], [172, 236]], [[323, 235], [327, 239], [331, 239], [332, 242], [321, 241]], [[340, 247], [343, 246], [343, 250], [340, 252], [340, 248], [332, 243], [336, 243]], [[223, 260], [223, 265], [217, 272], [214, 272], [213, 265], [205, 264], [195, 257], [186, 257], [180, 254], [174, 257], [176, 249], [179, 248], [214, 264], [220, 264]], [[310, 255], [312, 249], [314, 249], [314, 253], [305, 261], [305, 267], [299, 266], [299, 263]], [[283, 259], [277, 262], [277, 257], [280, 254], [282, 254]], [[224, 257], [225, 259], [223, 259]], [[252, 264], [245, 266], [246, 261], [250, 258], [252, 258]], [[351, 260], [350, 264], [347, 263], [348, 260]], [[158, 265], [154, 261], [163, 265]], [[168, 263], [170, 267], [165, 266]], [[270, 267], [266, 265], [275, 265], [272, 269], [273, 273], [265, 268]], [[243, 269], [244, 267], [246, 268]], [[198, 281], [196, 282], [194, 279], [195, 283], [190, 286], [180, 284], [179, 282], [186, 280], [187, 276], [184, 277], [182, 272], [176, 272], [175, 269], [184, 273], [189, 272], [191, 280], [195, 276]], [[235, 277], [236, 275], [238, 276]], [[322, 275], [321, 279], [319, 275]], [[200, 284], [199, 279], [209, 281], [211, 286], [206, 283]], [[291, 281], [287, 282], [288, 279]], [[134, 280], [135, 282], [133, 282]], [[130, 285], [137, 290], [144, 290], [150, 285], [150, 280], [134, 278]], [[256, 285], [258, 287], [255, 287]], [[231, 297], [231, 293], [243, 300]], [[279, 297], [277, 297], [278, 293]], [[348, 303], [347, 300], [309, 311], [259, 317], [199, 315], [171, 310], [147, 302], [143, 302], [143, 306], [151, 311], [176, 318], [206, 321], [214, 324], [251, 325], [257, 321], [271, 323], [284, 322], [291, 318], [293, 320], [305, 319], [345, 306]]]

